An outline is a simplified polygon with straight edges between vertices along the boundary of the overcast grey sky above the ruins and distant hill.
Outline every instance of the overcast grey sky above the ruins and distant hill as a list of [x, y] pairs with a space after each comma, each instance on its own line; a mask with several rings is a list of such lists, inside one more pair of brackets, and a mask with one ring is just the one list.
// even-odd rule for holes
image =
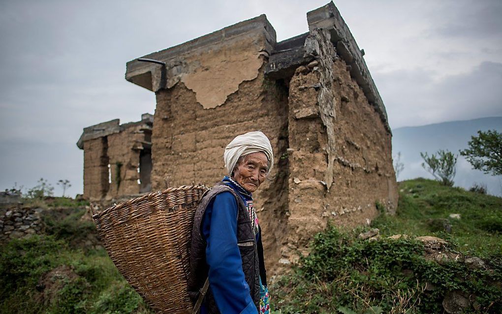
[[[0, 188], [68, 178], [82, 128], [154, 113], [126, 62], [266, 14], [284, 40], [323, 1], [0, 2]], [[337, 1], [392, 128], [502, 116], [502, 1]], [[61, 190], [56, 186], [56, 194]]]

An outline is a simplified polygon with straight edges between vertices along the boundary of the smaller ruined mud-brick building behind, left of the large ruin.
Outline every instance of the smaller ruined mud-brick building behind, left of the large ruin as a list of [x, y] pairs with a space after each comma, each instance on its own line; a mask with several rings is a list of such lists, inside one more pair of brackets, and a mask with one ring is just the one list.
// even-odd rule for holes
[[118, 119], [84, 128], [77, 146], [84, 150], [84, 197], [111, 200], [150, 192], [153, 116], [120, 124]]

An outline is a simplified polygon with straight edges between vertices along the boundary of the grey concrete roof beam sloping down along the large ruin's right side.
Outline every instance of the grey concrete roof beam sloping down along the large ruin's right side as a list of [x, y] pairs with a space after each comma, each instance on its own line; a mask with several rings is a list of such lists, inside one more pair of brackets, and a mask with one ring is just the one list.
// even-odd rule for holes
[[359, 84], [368, 101], [373, 105], [376, 112], [379, 113], [387, 130], [389, 127], [387, 112], [380, 93], [369, 74], [369, 70], [364, 62], [361, 50], [357, 46], [352, 33], [345, 24], [340, 12], [333, 2], [307, 13], [307, 22], [309, 31], [314, 29], [326, 29], [330, 31], [331, 42], [335, 45], [337, 54], [351, 66], [350, 74]]

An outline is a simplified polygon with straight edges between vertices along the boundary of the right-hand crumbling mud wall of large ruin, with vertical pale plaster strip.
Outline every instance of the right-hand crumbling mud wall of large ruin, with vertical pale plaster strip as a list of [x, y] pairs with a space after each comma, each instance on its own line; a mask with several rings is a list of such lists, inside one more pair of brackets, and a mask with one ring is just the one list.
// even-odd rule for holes
[[314, 61], [297, 68], [289, 88], [289, 234], [283, 263], [306, 253], [328, 220], [351, 227], [369, 222], [375, 202], [393, 212], [397, 183], [391, 133], [348, 67], [329, 33], [306, 41]]

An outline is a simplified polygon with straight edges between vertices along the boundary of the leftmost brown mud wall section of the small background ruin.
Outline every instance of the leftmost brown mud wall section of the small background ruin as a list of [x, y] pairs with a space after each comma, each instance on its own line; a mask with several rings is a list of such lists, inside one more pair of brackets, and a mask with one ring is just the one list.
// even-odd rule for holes
[[84, 197], [99, 200], [108, 192], [108, 140], [101, 137], [83, 142]]

